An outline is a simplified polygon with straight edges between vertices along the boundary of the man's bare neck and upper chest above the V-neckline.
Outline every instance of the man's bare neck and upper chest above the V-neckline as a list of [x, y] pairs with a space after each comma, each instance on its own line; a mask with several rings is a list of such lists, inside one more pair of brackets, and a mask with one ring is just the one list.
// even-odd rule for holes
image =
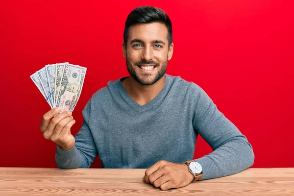
[[162, 76], [152, 85], [142, 85], [133, 77], [128, 77], [122, 81], [126, 93], [138, 104], [145, 105], [155, 98], [163, 89], [166, 82], [166, 76]]

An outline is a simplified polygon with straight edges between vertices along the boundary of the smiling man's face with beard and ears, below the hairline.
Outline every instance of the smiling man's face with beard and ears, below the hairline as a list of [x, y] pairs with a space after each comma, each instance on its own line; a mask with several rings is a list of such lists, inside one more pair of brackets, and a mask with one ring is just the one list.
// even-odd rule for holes
[[127, 70], [142, 85], [154, 84], [165, 74], [172, 51], [168, 29], [161, 23], [131, 26], [127, 44], [123, 43]]

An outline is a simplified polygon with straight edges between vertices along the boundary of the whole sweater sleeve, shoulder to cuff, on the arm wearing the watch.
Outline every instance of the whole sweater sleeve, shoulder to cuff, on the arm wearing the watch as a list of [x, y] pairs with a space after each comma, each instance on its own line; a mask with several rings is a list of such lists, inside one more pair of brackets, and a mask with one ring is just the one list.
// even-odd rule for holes
[[252, 146], [199, 86], [191, 92], [194, 103], [193, 125], [213, 152], [196, 159], [202, 166], [201, 180], [241, 172], [254, 162]]

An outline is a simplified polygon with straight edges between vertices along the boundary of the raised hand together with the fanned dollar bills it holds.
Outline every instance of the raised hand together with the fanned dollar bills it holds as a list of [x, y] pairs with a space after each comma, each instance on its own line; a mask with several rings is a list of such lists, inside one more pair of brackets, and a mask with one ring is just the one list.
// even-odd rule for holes
[[54, 107], [42, 118], [43, 137], [64, 150], [74, 146], [72, 112], [80, 98], [86, 71], [85, 67], [66, 62], [46, 65], [30, 76], [50, 107]]

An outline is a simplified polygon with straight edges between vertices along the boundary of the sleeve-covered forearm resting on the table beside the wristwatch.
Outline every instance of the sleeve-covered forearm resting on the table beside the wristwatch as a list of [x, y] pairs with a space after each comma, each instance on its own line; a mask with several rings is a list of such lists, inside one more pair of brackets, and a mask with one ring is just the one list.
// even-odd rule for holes
[[195, 161], [202, 166], [203, 176], [200, 180], [205, 180], [244, 171], [253, 165], [254, 153], [245, 137], [237, 136]]

